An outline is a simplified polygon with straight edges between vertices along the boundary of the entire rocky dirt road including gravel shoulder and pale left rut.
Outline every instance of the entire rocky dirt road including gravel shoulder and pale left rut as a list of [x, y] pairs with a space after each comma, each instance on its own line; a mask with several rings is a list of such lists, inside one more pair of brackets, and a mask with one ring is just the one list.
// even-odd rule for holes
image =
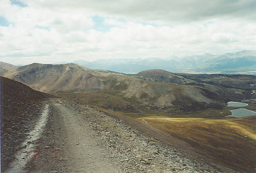
[[45, 107], [40, 138], [30, 133], [5, 172], [224, 172], [92, 107], [63, 99]]

